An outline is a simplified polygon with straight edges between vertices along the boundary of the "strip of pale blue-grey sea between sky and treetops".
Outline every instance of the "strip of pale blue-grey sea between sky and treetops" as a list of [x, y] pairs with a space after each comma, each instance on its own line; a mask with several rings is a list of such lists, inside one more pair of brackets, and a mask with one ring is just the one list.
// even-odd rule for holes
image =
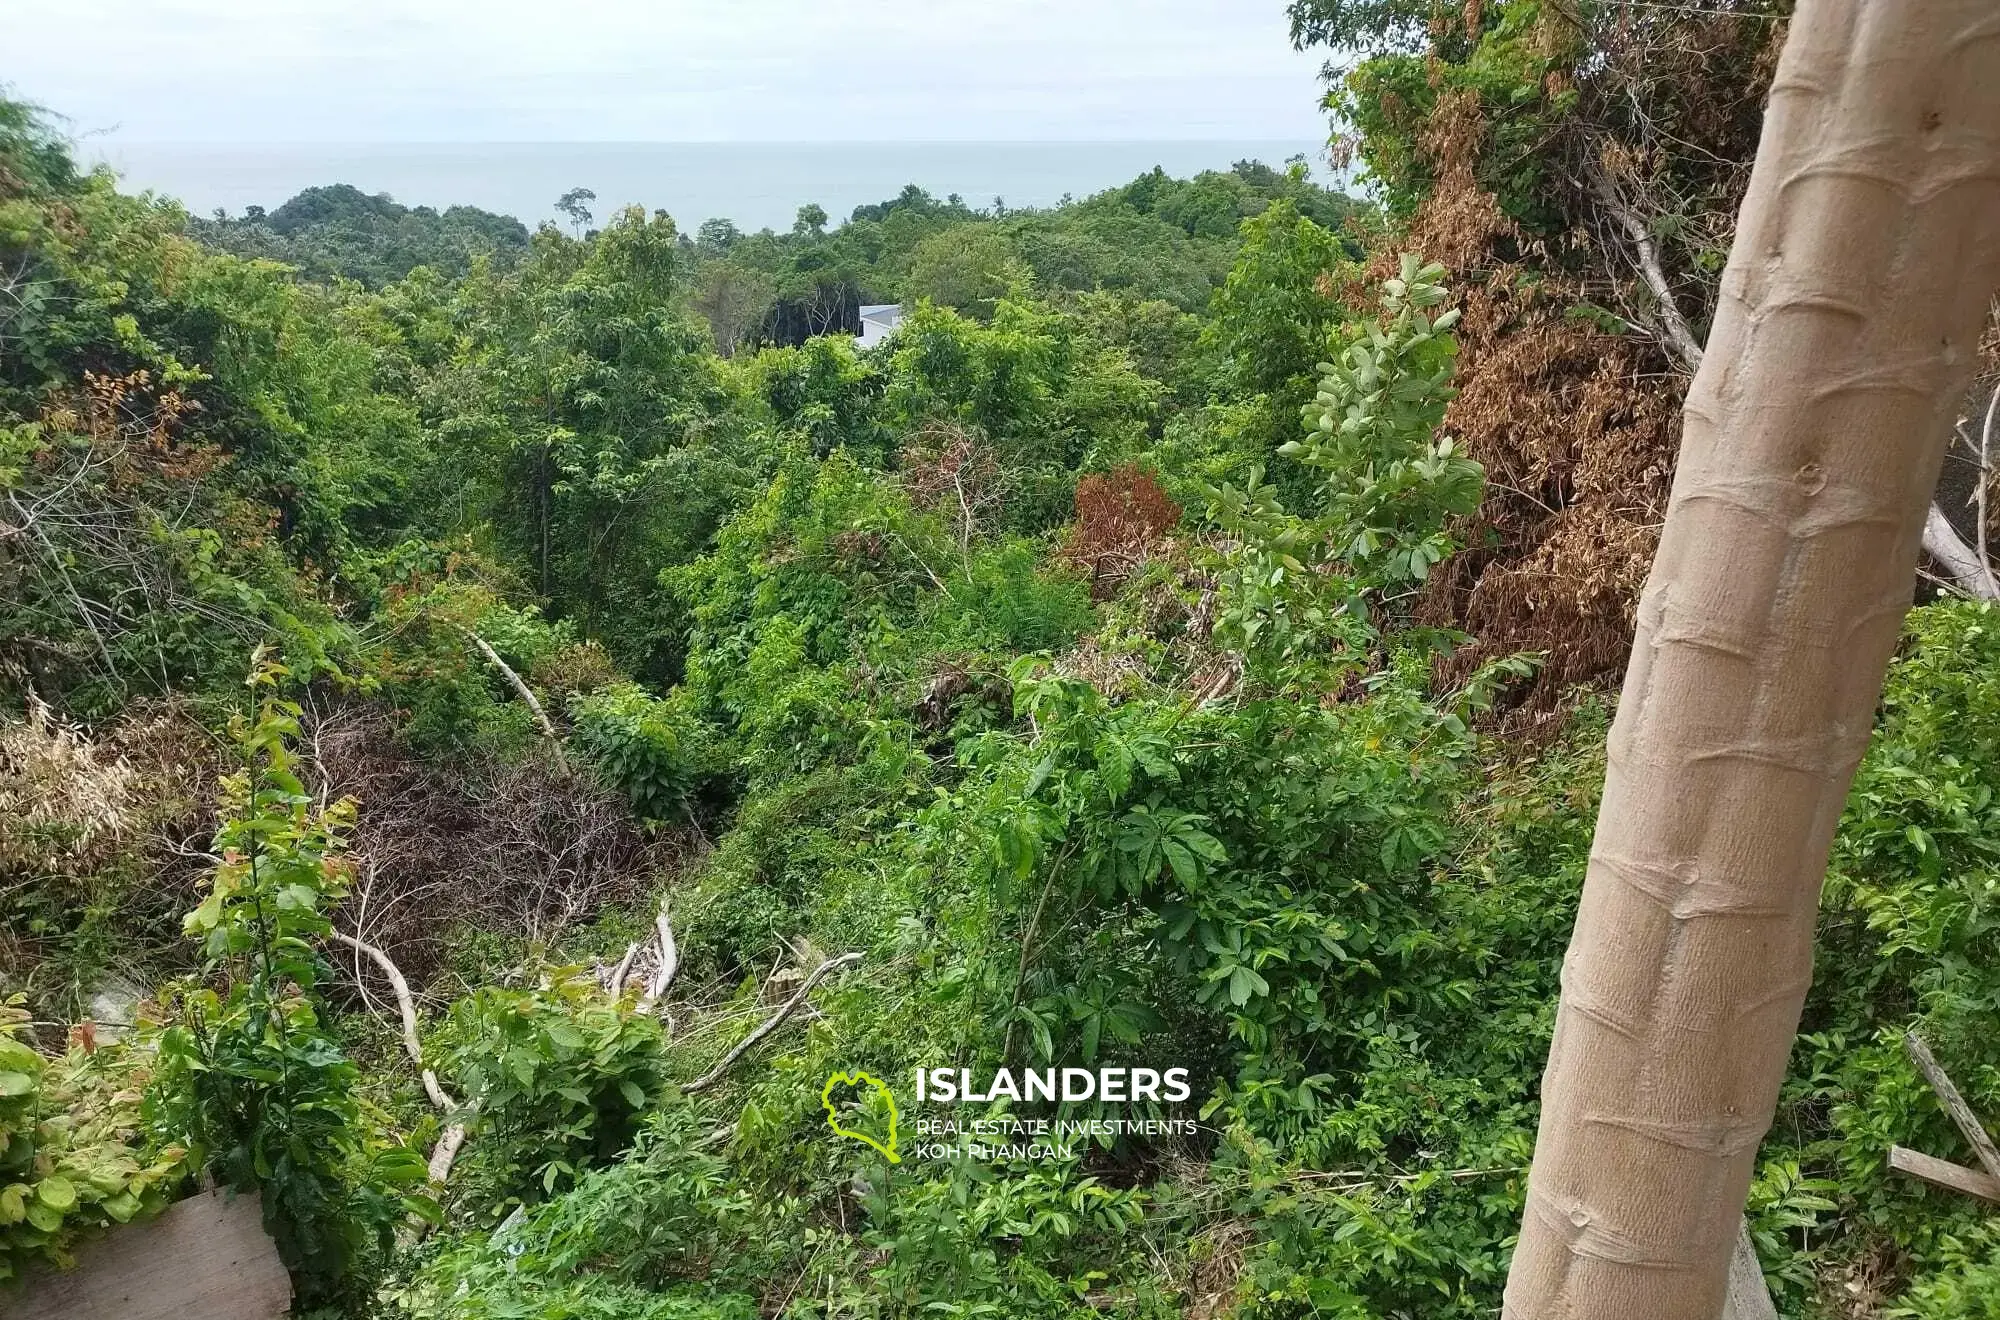
[[666, 210], [684, 230], [728, 218], [744, 230], [792, 228], [818, 202], [834, 220], [906, 184], [972, 206], [1050, 206], [1130, 182], [1154, 166], [1186, 176], [1238, 160], [1322, 162], [1322, 142], [466, 142], [466, 144], [82, 144], [128, 190], [188, 210], [266, 210], [314, 184], [354, 184], [406, 206], [468, 204], [528, 224], [556, 216], [570, 188], [598, 194], [602, 220], [624, 204]]

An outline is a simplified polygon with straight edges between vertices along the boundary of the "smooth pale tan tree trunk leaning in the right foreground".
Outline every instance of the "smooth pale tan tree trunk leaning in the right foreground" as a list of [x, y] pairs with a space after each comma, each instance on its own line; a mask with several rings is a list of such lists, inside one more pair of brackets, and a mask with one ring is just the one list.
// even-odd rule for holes
[[2000, 282], [2000, 4], [1802, 0], [1686, 404], [1510, 1320], [1716, 1320]]

